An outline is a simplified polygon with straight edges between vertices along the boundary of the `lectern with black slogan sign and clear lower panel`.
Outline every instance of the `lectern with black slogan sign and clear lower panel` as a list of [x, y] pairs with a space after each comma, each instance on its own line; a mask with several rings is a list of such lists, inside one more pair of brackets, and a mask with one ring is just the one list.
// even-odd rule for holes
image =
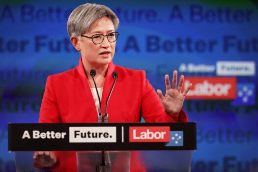
[[76, 151], [78, 172], [96, 172], [103, 150], [109, 172], [190, 172], [196, 123], [10, 123], [8, 149], [17, 172], [58, 172], [35, 166], [33, 152], [47, 150]]

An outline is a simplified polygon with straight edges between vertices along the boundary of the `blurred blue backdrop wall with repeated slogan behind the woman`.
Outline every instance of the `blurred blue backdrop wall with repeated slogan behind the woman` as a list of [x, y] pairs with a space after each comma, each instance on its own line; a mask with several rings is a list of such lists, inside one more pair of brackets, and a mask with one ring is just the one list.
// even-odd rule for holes
[[[155, 89], [165, 91], [164, 75], [173, 70], [189, 81], [193, 76], [236, 78], [234, 99], [184, 102], [189, 121], [198, 126], [192, 171], [258, 168], [257, 2], [87, 2], [114, 10], [120, 19], [115, 64], [145, 70]], [[78, 65], [80, 55], [69, 42], [66, 22], [83, 3], [0, 1], [0, 171], [10, 171], [13, 161], [7, 151], [7, 123], [37, 122], [47, 76]]]

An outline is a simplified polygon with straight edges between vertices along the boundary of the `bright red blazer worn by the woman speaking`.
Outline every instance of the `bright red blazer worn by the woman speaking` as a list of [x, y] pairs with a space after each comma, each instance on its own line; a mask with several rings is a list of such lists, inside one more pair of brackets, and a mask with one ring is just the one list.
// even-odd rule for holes
[[[103, 114], [107, 96], [114, 82], [113, 71], [118, 73], [118, 78], [108, 104], [109, 122], [140, 122], [142, 116], [146, 122], [176, 121], [166, 113], [154, 88], [146, 80], [143, 70], [124, 68], [113, 62], [109, 64], [102, 92]], [[48, 77], [39, 114], [40, 123], [97, 122], [97, 109], [82, 58], [77, 67]], [[178, 121], [188, 121], [183, 110], [179, 113]], [[72, 171], [76, 171], [74, 152], [66, 152], [66, 156], [59, 152], [57, 157], [60, 169], [73, 167], [75, 169]], [[134, 154], [131, 154], [131, 157], [133, 159]], [[138, 161], [137, 156], [134, 158], [134, 161]]]

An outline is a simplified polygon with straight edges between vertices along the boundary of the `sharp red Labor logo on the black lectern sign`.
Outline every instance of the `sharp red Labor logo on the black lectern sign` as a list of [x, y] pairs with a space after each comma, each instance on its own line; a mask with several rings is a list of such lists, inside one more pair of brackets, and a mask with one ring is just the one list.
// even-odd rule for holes
[[170, 127], [129, 127], [129, 142], [170, 142]]

